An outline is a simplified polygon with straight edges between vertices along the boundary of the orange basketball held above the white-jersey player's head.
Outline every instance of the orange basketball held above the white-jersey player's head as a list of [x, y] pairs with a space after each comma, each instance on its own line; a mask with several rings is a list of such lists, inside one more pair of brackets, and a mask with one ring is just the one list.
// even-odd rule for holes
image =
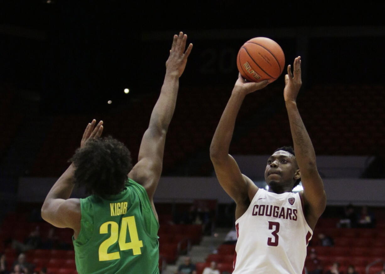
[[250, 82], [275, 81], [283, 72], [285, 54], [275, 41], [266, 37], [248, 40], [239, 49], [237, 67]]

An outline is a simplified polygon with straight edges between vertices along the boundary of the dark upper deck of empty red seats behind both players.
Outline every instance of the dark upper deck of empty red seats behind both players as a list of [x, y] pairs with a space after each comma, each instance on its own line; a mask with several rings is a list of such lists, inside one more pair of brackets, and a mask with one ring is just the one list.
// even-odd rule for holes
[[[181, 87], [166, 139], [165, 172], [208, 148], [230, 92], [231, 87]], [[11, 107], [14, 93], [9, 88], [0, 105], [5, 114], [0, 118], [4, 119], [4, 141], [0, 144], [0, 153], [9, 146], [23, 118], [22, 112]], [[68, 165], [67, 160], [79, 147], [84, 127], [92, 118], [104, 120], [105, 135], [124, 142], [136, 162], [141, 138], [158, 96], [141, 96], [106, 114], [55, 117], [44, 144], [29, 167], [30, 175], [60, 175]], [[292, 143], [286, 110], [283, 104], [277, 104], [279, 99], [283, 100], [281, 97], [280, 86], [267, 87], [248, 95], [239, 112], [237, 125], [252, 122], [255, 126], [235, 132], [232, 154], [269, 154], [278, 145]], [[301, 90], [298, 108], [317, 154], [370, 155], [385, 149], [382, 138], [385, 130], [384, 101], [384, 86], [314, 86]], [[273, 114], [258, 118], [260, 110], [269, 106]], [[208, 168], [205, 164], [199, 170]]]

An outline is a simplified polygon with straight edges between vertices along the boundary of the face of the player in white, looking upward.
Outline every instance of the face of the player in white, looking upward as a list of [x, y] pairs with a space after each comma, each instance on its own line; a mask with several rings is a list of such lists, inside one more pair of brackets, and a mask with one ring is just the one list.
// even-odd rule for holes
[[270, 184], [293, 184], [298, 170], [295, 156], [287, 151], [278, 150], [269, 157], [265, 169], [265, 180]]

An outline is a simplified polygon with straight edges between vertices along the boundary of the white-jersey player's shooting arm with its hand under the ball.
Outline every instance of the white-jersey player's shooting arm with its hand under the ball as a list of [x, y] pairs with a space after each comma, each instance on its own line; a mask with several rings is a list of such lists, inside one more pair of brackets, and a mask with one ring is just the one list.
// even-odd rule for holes
[[[263, 89], [268, 81], [247, 83], [239, 74], [231, 97], [223, 111], [221, 120], [215, 130], [210, 146], [210, 158], [213, 162], [219, 184], [238, 204], [247, 203], [249, 191], [255, 192], [258, 187], [239, 170], [238, 164], [229, 155], [229, 146], [233, 137], [235, 120], [244, 97], [255, 90]], [[239, 212], [236, 213], [239, 216]], [[240, 214], [241, 215], [241, 214]]]

